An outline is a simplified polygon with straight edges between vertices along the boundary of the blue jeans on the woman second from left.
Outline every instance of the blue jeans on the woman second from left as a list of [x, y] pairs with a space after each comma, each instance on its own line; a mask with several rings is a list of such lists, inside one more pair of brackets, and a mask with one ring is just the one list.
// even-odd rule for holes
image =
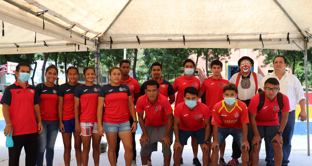
[[42, 120], [43, 130], [39, 134], [37, 166], [43, 165], [44, 151], [46, 150], [46, 166], [53, 165], [54, 145], [60, 128], [59, 121]]

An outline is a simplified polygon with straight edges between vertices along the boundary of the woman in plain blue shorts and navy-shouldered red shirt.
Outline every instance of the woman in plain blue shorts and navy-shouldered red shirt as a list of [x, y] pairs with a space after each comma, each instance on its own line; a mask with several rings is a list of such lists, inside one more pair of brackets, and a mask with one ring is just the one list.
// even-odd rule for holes
[[[71, 136], [74, 135], [74, 147], [76, 153], [77, 166], [81, 166], [81, 137], [75, 131], [74, 116], [74, 91], [81, 83], [77, 83], [79, 70], [75, 66], [70, 66], [66, 70], [68, 82], [60, 85], [58, 95], [58, 116], [60, 122], [60, 131], [64, 143], [64, 162], [69, 166], [71, 162]], [[79, 110], [80, 115], [80, 110]]]

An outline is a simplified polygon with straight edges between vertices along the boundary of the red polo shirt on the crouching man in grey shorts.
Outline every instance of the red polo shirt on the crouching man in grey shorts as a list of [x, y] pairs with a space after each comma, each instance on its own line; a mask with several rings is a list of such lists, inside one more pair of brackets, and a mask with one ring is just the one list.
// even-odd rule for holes
[[139, 97], [135, 111], [139, 113], [145, 111], [145, 125], [153, 127], [167, 125], [167, 115], [173, 112], [168, 98], [162, 94], [158, 94], [157, 102], [154, 105], [149, 102], [147, 95]]

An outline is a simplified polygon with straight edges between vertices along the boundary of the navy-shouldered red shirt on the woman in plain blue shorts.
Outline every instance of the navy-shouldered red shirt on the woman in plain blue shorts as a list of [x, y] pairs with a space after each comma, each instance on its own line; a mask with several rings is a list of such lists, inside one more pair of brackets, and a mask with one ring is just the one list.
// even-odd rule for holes
[[[57, 95], [63, 97], [63, 116], [62, 120], [67, 121], [75, 118], [74, 116], [74, 91], [77, 85], [69, 85], [68, 83], [63, 83], [59, 86]], [[81, 114], [81, 107], [79, 106], [79, 115]]]

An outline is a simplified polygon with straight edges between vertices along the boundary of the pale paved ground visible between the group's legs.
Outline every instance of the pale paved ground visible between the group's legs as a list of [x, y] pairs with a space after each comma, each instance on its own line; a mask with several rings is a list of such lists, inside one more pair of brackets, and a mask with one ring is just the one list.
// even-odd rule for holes
[[[139, 140], [140, 135], [136, 135], [136, 140]], [[312, 135], [310, 136], [310, 138]], [[103, 137], [103, 141], [106, 141], [106, 137]], [[310, 139], [312, 143], [312, 138]], [[73, 141], [72, 141], [73, 142]], [[137, 141], [138, 142], [138, 141]], [[226, 139], [227, 145], [226, 145], [226, 151], [224, 155], [224, 159], [226, 162], [228, 162], [231, 159], [231, 154], [232, 154], [232, 137], [229, 136]], [[173, 147], [173, 146], [171, 146]], [[124, 165], [124, 159], [123, 159], [123, 154], [124, 154], [124, 149], [120, 149], [120, 154], [119, 154], [119, 159], [118, 159], [118, 165], [123, 166]], [[311, 146], [312, 148], [312, 146]], [[140, 146], [139, 144], [136, 145], [137, 149], [137, 164], [138, 166], [141, 165], [141, 159], [140, 159]], [[160, 143], [158, 144], [158, 151], [153, 152], [152, 154], [152, 164], [153, 166], [162, 166], [163, 164], [163, 154], [161, 153], [161, 145]], [[289, 166], [297, 166], [297, 165], [312, 165], [312, 157], [307, 156], [307, 136], [306, 135], [294, 135], [293, 140], [292, 140], [292, 151], [290, 154], [290, 163], [288, 164]], [[63, 159], [63, 153], [64, 153], [64, 148], [63, 148], [63, 141], [62, 141], [62, 136], [59, 133], [56, 139], [56, 145], [54, 149], [54, 160], [53, 160], [53, 165], [55, 166], [63, 166], [64, 165], [64, 159]], [[311, 151], [312, 153], [312, 151]], [[0, 132], [0, 166], [6, 166], [8, 165], [8, 150], [5, 147], [5, 137], [3, 136], [3, 132]], [[92, 149], [90, 151], [90, 157], [89, 157], [89, 165], [92, 166], [94, 165], [93, 159], [92, 159]], [[75, 151], [74, 148], [72, 148], [71, 152], [71, 166], [76, 166], [76, 160], [75, 160]], [[202, 163], [202, 152], [199, 150], [198, 152], [198, 158], [200, 159], [200, 162]], [[193, 159], [193, 151], [190, 145], [190, 139], [188, 141], [188, 145], [185, 145], [184, 151], [183, 151], [183, 161], [184, 164], [182, 166], [194, 166], [192, 164], [192, 159]], [[266, 163], [264, 161], [265, 159], [265, 149], [264, 146], [261, 147], [260, 151], [260, 161], [259, 161], [259, 166], [266, 166]], [[241, 165], [241, 160], [239, 159]], [[43, 162], [46, 164], [46, 161]], [[22, 150], [21, 153], [21, 158], [20, 158], [20, 165], [25, 165], [25, 152]], [[100, 155], [100, 165], [102, 166], [110, 166], [110, 163], [107, 158], [107, 152], [102, 153]], [[173, 165], [173, 159], [171, 159], [171, 165]]]

